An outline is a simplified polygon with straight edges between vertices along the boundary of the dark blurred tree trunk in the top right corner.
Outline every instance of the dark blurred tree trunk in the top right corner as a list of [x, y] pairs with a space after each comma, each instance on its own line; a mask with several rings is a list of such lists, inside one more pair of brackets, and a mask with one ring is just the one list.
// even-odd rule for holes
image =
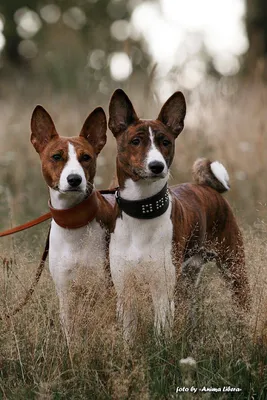
[[246, 0], [249, 50], [245, 67], [249, 73], [267, 78], [267, 1]]

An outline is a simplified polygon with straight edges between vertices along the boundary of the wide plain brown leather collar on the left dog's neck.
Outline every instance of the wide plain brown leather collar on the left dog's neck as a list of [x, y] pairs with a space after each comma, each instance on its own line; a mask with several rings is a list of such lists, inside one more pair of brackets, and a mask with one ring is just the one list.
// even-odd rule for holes
[[48, 206], [55, 222], [66, 229], [78, 229], [96, 217], [98, 210], [98, 198], [96, 192], [93, 191], [90, 196], [86, 197], [81, 203], [66, 210], [57, 210], [52, 207], [49, 200]]

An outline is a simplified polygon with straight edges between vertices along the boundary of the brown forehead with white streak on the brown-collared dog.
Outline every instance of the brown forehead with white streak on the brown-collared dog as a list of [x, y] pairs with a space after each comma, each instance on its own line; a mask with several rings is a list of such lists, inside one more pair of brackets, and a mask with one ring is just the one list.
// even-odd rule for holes
[[44, 150], [45, 155], [50, 155], [52, 153], [61, 152], [66, 155], [71, 153], [76, 153], [77, 155], [81, 153], [87, 153], [91, 157], [94, 156], [93, 147], [87, 142], [83, 137], [63, 137], [59, 136], [51, 140]]

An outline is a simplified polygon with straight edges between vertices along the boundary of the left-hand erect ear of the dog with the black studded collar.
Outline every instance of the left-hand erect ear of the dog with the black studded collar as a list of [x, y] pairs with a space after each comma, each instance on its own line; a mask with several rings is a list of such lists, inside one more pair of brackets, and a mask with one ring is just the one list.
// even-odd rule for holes
[[116, 137], [136, 121], [138, 121], [138, 117], [129, 97], [122, 89], [115, 90], [109, 104], [108, 122], [113, 135]]

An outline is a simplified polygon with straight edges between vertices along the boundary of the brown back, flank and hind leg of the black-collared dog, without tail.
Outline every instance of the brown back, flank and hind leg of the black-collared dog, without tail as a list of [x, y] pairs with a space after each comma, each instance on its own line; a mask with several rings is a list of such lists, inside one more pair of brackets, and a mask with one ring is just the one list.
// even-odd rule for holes
[[250, 290], [243, 240], [228, 202], [208, 186], [186, 183], [170, 190], [177, 277], [180, 277], [181, 262], [205, 248], [214, 254], [234, 301], [248, 308]]

